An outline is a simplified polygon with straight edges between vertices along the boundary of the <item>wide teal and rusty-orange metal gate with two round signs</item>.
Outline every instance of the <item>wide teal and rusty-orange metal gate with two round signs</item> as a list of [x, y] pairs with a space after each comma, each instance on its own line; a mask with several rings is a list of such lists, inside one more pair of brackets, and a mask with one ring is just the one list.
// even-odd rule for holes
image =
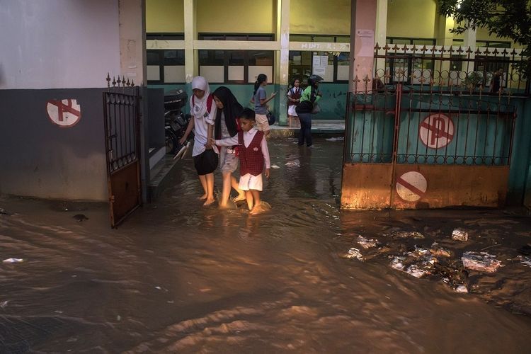
[[[408, 70], [387, 66], [404, 53], [389, 50], [377, 52], [381, 69], [356, 78], [348, 96], [342, 207], [503, 205], [516, 118], [511, 98], [527, 96], [527, 82], [506, 70], [501, 90], [489, 92], [493, 74], [474, 70], [479, 62], [471, 52], [455, 57], [424, 47], [416, 53], [414, 46], [402, 48], [417, 63], [402, 61], [414, 68], [405, 79]], [[512, 65], [515, 58], [493, 53], [489, 60]]]

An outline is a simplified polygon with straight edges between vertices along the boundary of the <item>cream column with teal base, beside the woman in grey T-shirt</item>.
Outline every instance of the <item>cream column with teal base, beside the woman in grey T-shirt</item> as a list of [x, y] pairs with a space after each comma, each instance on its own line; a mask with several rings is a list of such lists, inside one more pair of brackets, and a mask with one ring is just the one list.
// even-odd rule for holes
[[290, 84], [290, 0], [277, 0], [277, 40], [280, 54], [276, 75], [279, 91], [275, 98], [278, 107], [278, 124], [287, 125], [287, 87]]

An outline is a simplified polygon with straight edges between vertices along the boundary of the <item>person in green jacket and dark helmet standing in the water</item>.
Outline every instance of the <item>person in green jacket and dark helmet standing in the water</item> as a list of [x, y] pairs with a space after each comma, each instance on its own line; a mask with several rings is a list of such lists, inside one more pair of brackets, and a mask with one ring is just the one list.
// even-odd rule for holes
[[321, 92], [317, 90], [319, 82], [323, 78], [319, 75], [312, 75], [308, 78], [308, 87], [302, 91], [300, 103], [295, 109], [300, 120], [299, 146], [312, 147], [312, 114], [315, 113], [316, 104], [321, 99]]

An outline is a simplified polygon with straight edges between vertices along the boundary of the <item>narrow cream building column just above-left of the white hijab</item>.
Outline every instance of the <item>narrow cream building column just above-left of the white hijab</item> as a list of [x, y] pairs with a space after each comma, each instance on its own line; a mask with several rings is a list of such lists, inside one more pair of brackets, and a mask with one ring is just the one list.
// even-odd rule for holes
[[196, 12], [195, 0], [184, 0], [184, 71], [186, 84], [191, 84], [193, 76], [198, 73], [197, 65], [195, 65], [197, 55], [195, 55], [193, 47], [194, 40], [198, 39], [198, 33], [195, 30]]

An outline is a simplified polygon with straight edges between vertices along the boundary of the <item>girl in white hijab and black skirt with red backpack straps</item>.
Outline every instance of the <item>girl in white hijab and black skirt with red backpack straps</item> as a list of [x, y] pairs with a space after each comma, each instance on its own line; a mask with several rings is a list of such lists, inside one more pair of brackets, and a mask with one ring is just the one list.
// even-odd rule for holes
[[190, 97], [190, 115], [193, 119], [188, 123], [186, 132], [179, 141], [184, 144], [190, 132], [194, 130], [193, 142], [193, 163], [195, 169], [198, 171], [199, 181], [202, 189], [205, 191], [199, 197], [200, 200], [205, 200], [204, 206], [211, 205], [215, 202], [214, 199], [214, 170], [217, 168], [217, 154], [212, 149], [210, 138], [212, 137], [212, 129], [208, 129], [209, 125], [214, 125], [217, 107], [207, 80], [202, 76], [195, 76], [192, 80], [193, 95]]

